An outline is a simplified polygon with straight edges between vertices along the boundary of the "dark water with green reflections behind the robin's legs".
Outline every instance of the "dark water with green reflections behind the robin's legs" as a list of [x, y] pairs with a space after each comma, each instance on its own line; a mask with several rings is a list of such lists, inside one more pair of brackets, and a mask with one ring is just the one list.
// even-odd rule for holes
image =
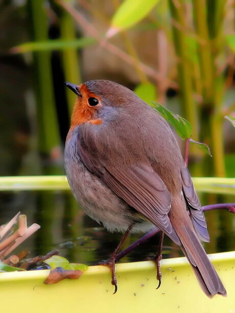
[[[0, 194], [0, 224], [8, 222], [19, 210], [26, 214], [28, 225], [37, 223], [41, 228], [26, 240], [15, 253], [29, 250], [30, 256], [45, 255], [58, 249], [61, 256], [70, 262], [88, 265], [107, 259], [120, 241], [122, 234], [109, 233], [92, 221], [78, 207], [69, 191], [21, 191]], [[234, 250], [235, 216], [227, 211], [206, 212], [211, 243], [207, 252], [215, 253]], [[126, 248], [142, 234], [131, 235]], [[140, 261], [157, 251], [159, 235], [132, 251], [121, 262]], [[181, 250], [167, 236], [164, 241], [163, 257], [183, 256]]]

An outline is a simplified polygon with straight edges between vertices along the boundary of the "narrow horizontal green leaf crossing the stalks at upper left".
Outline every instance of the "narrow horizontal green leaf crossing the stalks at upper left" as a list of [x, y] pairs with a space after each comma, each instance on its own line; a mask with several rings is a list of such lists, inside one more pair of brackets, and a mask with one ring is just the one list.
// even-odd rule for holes
[[90, 37], [80, 38], [76, 40], [60, 40], [51, 39], [46, 41], [26, 42], [13, 47], [11, 53], [25, 53], [32, 51], [52, 51], [52, 50], [66, 50], [71, 48], [84, 48], [95, 43], [96, 40]]

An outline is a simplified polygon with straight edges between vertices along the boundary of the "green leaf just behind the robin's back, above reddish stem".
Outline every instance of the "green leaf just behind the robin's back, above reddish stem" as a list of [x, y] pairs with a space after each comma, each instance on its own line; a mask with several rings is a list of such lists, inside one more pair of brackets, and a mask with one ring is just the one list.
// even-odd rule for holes
[[152, 104], [154, 109], [175, 128], [177, 134], [182, 139], [186, 140], [192, 136], [192, 127], [186, 119], [171, 112], [157, 102], [152, 102]]

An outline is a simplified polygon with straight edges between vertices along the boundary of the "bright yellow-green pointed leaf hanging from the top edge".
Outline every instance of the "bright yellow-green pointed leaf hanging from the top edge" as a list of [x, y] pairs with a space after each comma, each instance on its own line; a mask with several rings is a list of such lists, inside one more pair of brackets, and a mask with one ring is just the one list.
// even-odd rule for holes
[[108, 32], [127, 29], [145, 18], [159, 0], [125, 0], [117, 9], [111, 20]]

